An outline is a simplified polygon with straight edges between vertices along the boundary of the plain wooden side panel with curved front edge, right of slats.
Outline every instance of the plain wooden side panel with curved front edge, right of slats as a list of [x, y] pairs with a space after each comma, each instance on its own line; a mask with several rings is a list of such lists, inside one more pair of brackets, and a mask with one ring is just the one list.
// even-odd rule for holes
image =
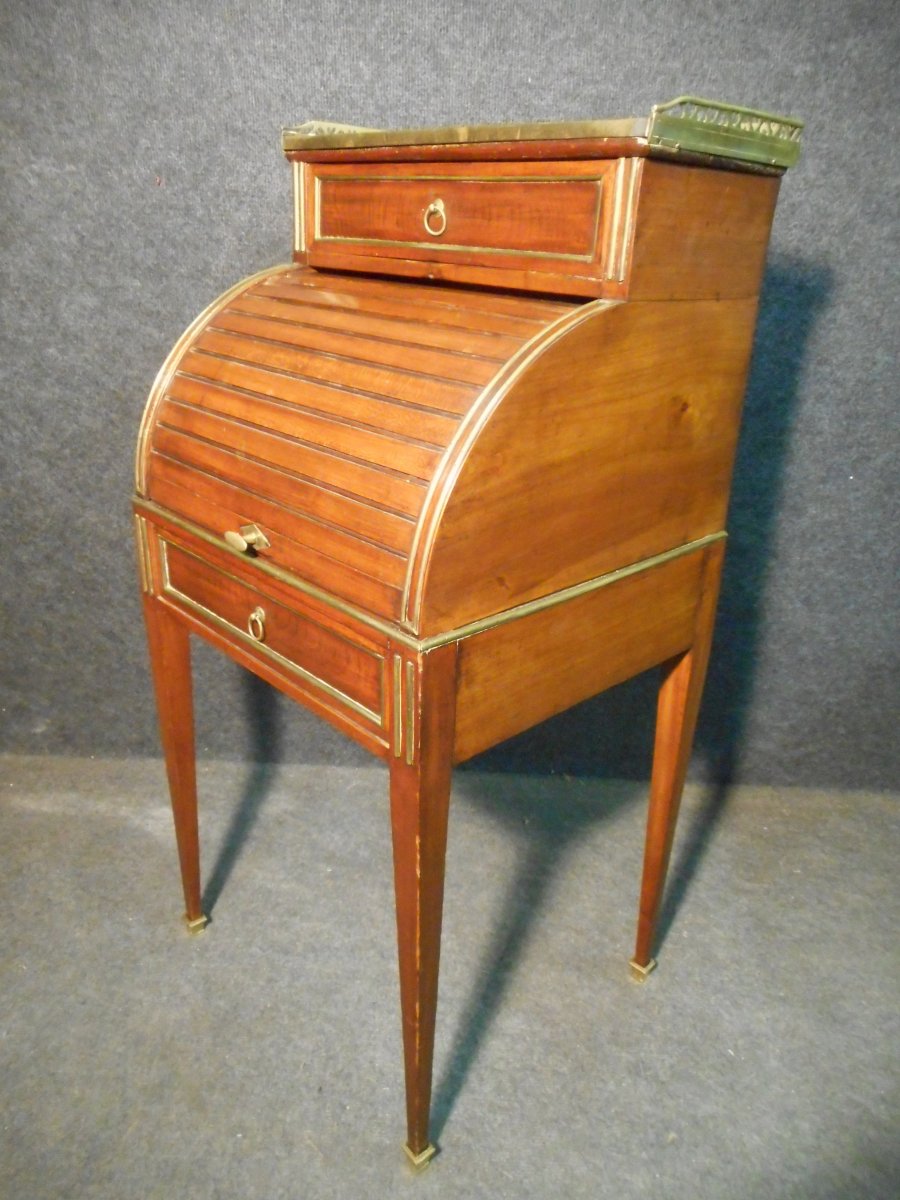
[[599, 308], [432, 490], [409, 607], [440, 634], [724, 528], [756, 300]]

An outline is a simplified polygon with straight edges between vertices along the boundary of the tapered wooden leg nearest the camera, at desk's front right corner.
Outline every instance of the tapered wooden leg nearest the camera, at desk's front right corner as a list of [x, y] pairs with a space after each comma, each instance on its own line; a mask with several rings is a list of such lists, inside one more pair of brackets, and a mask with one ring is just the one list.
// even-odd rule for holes
[[[390, 766], [400, 1002], [407, 1085], [407, 1154], [428, 1162], [440, 916], [456, 710], [456, 647], [403, 662], [401, 734]], [[397, 714], [395, 714], [396, 716]]]

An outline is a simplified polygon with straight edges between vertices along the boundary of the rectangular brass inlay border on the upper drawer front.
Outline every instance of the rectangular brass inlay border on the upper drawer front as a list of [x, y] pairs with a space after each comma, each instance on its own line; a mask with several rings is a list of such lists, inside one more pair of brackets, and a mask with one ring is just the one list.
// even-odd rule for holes
[[[449, 241], [404, 241], [402, 239], [394, 238], [379, 238], [377, 235], [368, 238], [349, 238], [337, 234], [323, 234], [322, 232], [322, 184], [326, 180], [332, 187], [340, 187], [341, 184], [420, 184], [420, 182], [437, 182], [446, 184], [452, 186], [454, 184], [517, 184], [522, 186], [534, 186], [542, 184], [594, 184], [596, 186], [596, 198], [594, 200], [594, 214], [590, 218], [592, 230], [593, 230], [593, 242], [590, 250], [587, 254], [574, 254], [564, 251], [546, 251], [546, 250], [517, 250], [514, 246], [474, 246], [466, 242], [449, 242]], [[570, 263], [593, 263], [596, 257], [596, 245], [598, 238], [600, 235], [600, 204], [602, 200], [602, 175], [545, 175], [540, 179], [528, 179], [520, 175], [317, 175], [316, 176], [316, 241], [331, 241], [341, 242], [347, 245], [378, 245], [378, 246], [406, 246], [410, 250], [449, 250], [449, 251], [470, 251], [478, 254], [522, 254], [528, 258], [552, 258], [562, 259]]]

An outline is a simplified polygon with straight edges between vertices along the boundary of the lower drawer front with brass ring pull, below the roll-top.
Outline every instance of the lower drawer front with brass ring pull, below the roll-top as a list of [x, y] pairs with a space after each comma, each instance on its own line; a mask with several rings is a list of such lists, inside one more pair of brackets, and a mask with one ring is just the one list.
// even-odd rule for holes
[[160, 538], [164, 595], [227, 630], [313, 692], [384, 727], [384, 656]]

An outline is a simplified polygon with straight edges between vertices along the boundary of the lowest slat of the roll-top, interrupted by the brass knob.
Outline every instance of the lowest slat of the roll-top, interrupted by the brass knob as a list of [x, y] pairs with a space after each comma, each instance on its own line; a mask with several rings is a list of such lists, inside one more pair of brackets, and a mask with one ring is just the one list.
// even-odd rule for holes
[[[152, 462], [152, 460], [151, 460]], [[194, 492], [179, 487], [158, 473], [151, 476], [150, 498], [202, 528], [220, 535], [235, 528], [244, 520], [242, 514], [211, 504]], [[246, 518], [250, 520], [250, 518]], [[293, 571], [300, 578], [358, 604], [370, 612], [396, 614], [400, 607], [400, 590], [362, 571], [353, 570], [346, 563], [299, 546], [287, 538], [280, 539], [278, 565]]]

